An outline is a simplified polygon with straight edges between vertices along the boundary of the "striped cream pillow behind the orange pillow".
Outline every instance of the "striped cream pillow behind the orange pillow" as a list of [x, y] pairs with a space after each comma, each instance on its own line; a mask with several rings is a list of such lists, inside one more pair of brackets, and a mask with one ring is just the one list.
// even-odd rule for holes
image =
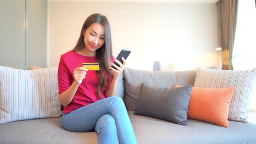
[[228, 119], [248, 122], [249, 100], [256, 79], [256, 69], [253, 70], [211, 70], [198, 68], [194, 87], [228, 88], [235, 87]]

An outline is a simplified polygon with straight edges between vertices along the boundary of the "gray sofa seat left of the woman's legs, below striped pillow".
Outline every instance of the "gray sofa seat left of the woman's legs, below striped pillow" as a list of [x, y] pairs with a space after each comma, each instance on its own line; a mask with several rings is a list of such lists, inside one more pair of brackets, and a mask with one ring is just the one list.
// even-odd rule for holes
[[61, 118], [42, 118], [0, 125], [0, 143], [97, 143], [95, 132], [74, 133], [61, 127]]

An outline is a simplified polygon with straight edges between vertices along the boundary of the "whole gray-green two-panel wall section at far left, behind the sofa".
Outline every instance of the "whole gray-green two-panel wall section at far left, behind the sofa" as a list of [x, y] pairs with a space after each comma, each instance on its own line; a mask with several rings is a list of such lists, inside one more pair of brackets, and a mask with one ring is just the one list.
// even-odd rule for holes
[[47, 67], [46, 0], [0, 1], [0, 65]]

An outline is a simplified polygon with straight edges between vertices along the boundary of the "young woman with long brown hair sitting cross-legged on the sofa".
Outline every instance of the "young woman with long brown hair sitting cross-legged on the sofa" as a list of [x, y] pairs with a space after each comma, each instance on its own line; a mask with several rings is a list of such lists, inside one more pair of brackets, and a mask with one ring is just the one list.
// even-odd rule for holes
[[[77, 45], [60, 58], [58, 84], [59, 98], [65, 106], [63, 128], [76, 132], [95, 130], [98, 143], [137, 143], [124, 102], [114, 96], [119, 75], [125, 69], [125, 59], [122, 60], [123, 64], [112, 56], [106, 16], [90, 15]], [[100, 70], [82, 67], [82, 63], [95, 62], [100, 64]]]

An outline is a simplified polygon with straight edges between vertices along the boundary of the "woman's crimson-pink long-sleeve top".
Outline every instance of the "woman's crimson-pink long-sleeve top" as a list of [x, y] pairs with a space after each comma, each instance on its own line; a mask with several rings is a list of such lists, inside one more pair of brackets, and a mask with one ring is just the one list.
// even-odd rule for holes
[[[58, 68], [58, 84], [59, 94], [65, 92], [74, 82], [73, 71], [75, 68], [83, 67], [82, 63], [95, 63], [96, 56], [88, 57], [78, 54], [77, 52], [69, 51], [61, 55]], [[112, 56], [111, 62], [114, 62]], [[71, 103], [64, 107], [63, 113], [69, 113], [80, 107], [94, 103], [100, 98], [97, 97], [96, 89], [98, 77], [95, 70], [88, 70], [83, 82], [79, 85]], [[101, 97], [106, 98], [106, 87], [102, 89]]]

